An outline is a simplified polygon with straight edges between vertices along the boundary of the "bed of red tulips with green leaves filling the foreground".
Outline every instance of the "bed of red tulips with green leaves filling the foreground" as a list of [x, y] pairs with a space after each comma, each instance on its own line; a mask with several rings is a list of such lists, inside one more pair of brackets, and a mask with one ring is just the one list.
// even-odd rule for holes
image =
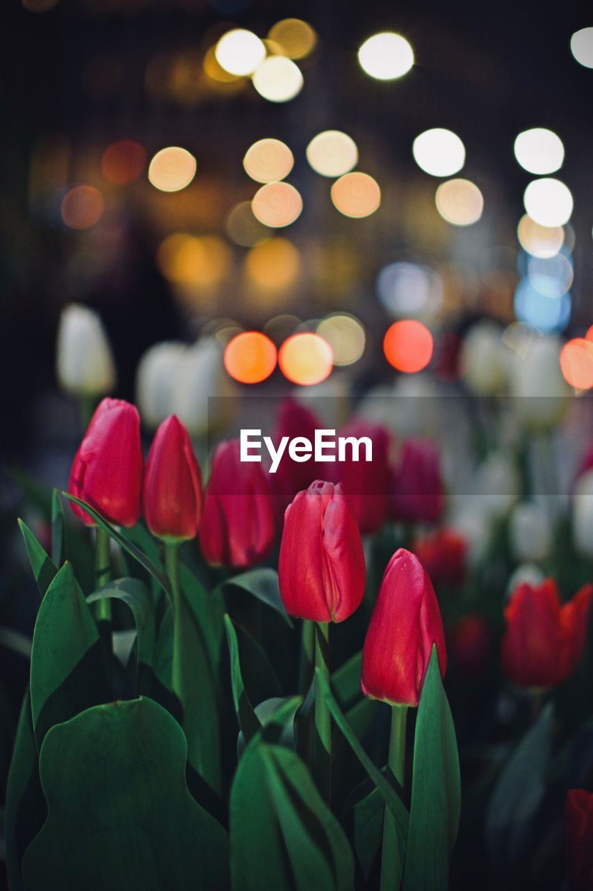
[[[279, 425], [316, 420], [287, 402]], [[394, 462], [381, 425], [342, 432], [373, 462], [281, 462], [272, 484], [230, 440], [203, 486], [175, 416], [144, 465], [134, 406], [99, 405], [47, 550], [20, 523], [41, 602], [12, 891], [560, 887], [564, 809], [591, 887], [584, 564], [564, 604], [550, 578], [505, 606], [501, 541], [470, 578], [465, 538], [435, 526], [436, 446]]]

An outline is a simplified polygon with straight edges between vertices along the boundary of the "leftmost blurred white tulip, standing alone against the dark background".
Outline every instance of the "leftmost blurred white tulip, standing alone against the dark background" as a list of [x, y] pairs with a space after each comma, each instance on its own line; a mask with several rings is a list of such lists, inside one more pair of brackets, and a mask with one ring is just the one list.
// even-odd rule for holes
[[58, 326], [56, 372], [60, 386], [72, 396], [102, 396], [116, 385], [116, 371], [99, 316], [71, 303]]

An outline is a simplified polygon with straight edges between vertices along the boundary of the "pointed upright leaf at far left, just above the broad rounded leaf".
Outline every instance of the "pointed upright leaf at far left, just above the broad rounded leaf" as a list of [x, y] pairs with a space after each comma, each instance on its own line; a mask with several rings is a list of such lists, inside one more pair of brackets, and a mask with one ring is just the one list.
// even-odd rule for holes
[[97, 626], [68, 562], [37, 613], [30, 691], [38, 747], [54, 723], [110, 699]]

